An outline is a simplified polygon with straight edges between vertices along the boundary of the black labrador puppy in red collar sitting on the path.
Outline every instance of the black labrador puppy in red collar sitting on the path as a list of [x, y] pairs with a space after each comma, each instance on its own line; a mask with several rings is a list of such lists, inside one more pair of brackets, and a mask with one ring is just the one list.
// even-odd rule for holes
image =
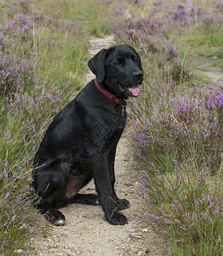
[[[71, 202], [100, 204], [111, 224], [128, 223], [119, 212], [129, 201], [116, 195], [114, 161], [126, 102], [140, 94], [140, 55], [129, 44], [115, 45], [94, 55], [89, 68], [96, 79], [54, 117], [34, 160], [37, 208], [55, 225], [65, 224], [56, 209]], [[92, 178], [98, 195], [78, 194]]]

